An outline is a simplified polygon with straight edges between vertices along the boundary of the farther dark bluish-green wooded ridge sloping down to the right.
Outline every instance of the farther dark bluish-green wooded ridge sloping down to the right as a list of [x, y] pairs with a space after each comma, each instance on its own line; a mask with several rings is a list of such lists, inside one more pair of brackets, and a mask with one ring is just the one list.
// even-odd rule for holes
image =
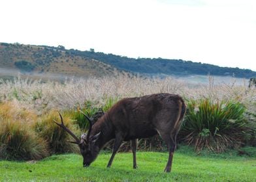
[[127, 72], [180, 76], [210, 74], [241, 78], [256, 77], [256, 72], [248, 69], [220, 67], [181, 59], [132, 59], [118, 55], [96, 53], [94, 51], [77, 51], [73, 49], [69, 50], [69, 53], [72, 55], [80, 55], [81, 57], [97, 59]]

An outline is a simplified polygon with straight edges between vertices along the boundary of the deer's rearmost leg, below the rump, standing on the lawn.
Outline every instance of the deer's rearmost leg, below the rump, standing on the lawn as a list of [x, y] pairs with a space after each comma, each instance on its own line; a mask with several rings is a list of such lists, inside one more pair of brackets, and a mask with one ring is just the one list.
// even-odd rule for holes
[[172, 158], [174, 155], [174, 150], [176, 148], [176, 135], [174, 137], [170, 136], [170, 134], [162, 134], [163, 140], [167, 144], [167, 149], [169, 152], [167, 166], [165, 167], [165, 172], [170, 172], [172, 170]]

